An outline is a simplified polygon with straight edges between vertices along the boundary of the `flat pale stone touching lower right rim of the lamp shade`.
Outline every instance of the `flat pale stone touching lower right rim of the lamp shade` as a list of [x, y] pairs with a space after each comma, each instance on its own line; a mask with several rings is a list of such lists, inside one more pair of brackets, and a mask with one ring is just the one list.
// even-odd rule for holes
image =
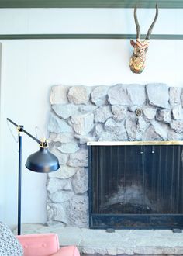
[[49, 178], [70, 178], [76, 172], [78, 168], [70, 167], [70, 166], [61, 166], [58, 171], [53, 171], [48, 174]]

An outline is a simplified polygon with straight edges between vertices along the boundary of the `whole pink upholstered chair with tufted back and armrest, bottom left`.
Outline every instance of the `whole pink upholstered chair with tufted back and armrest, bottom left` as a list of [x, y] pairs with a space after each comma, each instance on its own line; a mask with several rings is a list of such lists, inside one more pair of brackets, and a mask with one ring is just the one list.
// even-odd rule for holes
[[57, 234], [29, 234], [16, 237], [22, 244], [24, 256], [80, 256], [75, 246], [60, 248]]

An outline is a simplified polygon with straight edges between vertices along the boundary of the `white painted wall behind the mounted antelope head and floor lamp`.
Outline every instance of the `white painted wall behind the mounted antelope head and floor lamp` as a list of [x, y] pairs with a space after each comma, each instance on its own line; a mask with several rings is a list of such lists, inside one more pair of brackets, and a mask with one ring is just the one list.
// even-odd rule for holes
[[[138, 10], [141, 33], [154, 9]], [[143, 24], [143, 20], [146, 24]], [[183, 10], [161, 9], [154, 33], [183, 33]], [[132, 9], [0, 9], [0, 33], [136, 33]], [[151, 40], [142, 74], [129, 70], [129, 40], [1, 40], [0, 220], [17, 219], [18, 144], [6, 117], [47, 133], [51, 85], [165, 82], [183, 86], [183, 40]], [[155, 89], [155, 88], [154, 88]], [[10, 125], [11, 126], [11, 125]], [[16, 135], [16, 129], [11, 126]], [[37, 144], [23, 136], [22, 223], [46, 221], [46, 175], [28, 171]]]

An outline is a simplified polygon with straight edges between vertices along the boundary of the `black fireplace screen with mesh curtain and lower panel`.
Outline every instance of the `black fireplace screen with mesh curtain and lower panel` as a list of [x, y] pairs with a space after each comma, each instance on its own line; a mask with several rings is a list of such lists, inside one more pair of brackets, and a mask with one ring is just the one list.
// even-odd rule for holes
[[89, 147], [91, 228], [182, 228], [183, 146]]

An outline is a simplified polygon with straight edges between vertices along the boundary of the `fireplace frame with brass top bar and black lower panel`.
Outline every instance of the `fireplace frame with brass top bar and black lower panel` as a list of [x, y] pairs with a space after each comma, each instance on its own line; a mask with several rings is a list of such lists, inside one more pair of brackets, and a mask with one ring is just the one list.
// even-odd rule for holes
[[[92, 154], [95, 146], [182, 145], [183, 141], [98, 141], [88, 142], [89, 227], [91, 229], [183, 229], [183, 214], [98, 214], [92, 213]], [[182, 147], [183, 150], [183, 147]]]

